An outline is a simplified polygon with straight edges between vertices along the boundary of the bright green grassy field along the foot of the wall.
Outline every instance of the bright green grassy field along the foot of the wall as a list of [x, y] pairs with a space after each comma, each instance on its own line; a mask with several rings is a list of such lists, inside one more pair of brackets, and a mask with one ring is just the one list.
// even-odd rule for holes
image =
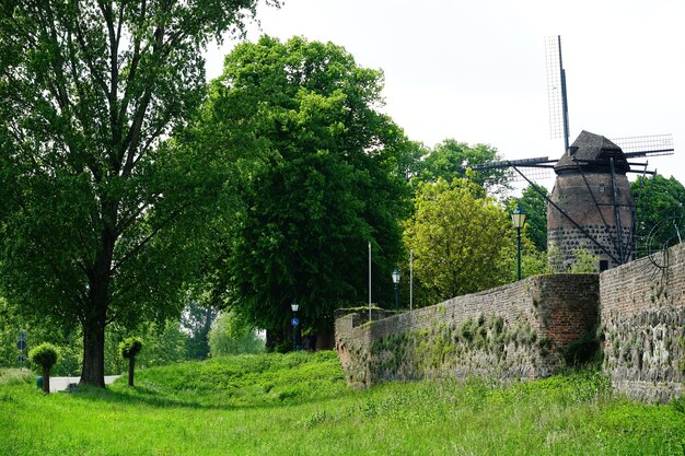
[[43, 396], [0, 373], [0, 454], [685, 455], [683, 402], [611, 397], [591, 371], [352, 390], [321, 352], [183, 363], [136, 383]]

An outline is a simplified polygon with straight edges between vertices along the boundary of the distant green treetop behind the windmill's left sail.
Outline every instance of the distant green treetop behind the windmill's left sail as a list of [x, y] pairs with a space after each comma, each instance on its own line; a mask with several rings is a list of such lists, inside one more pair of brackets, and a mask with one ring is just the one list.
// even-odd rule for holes
[[472, 147], [454, 139], [445, 139], [423, 155], [415, 183], [437, 182], [442, 178], [449, 184], [455, 178], [468, 178], [488, 194], [502, 196], [511, 189], [510, 169], [483, 169], [471, 174], [466, 172], [469, 167], [499, 160], [501, 160], [499, 152], [491, 145]]

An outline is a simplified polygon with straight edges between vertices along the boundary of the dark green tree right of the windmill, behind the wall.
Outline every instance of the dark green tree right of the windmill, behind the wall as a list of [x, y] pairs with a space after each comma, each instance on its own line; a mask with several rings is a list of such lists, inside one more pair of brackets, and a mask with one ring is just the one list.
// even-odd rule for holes
[[630, 183], [636, 213], [636, 253], [643, 257], [678, 244], [685, 236], [685, 187], [675, 177], [639, 176]]

